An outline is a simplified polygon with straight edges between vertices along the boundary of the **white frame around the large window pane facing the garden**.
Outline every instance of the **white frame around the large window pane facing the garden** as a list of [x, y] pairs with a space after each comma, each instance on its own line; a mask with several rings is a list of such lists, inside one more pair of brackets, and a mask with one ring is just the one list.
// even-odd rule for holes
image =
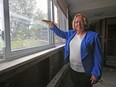
[[[54, 21], [54, 0], [48, 0], [48, 20]], [[52, 7], [52, 9], [51, 9]], [[20, 58], [32, 53], [36, 53], [51, 47], [55, 46], [54, 42], [54, 34], [49, 29], [49, 45], [38, 46], [32, 48], [21, 49], [17, 51], [11, 51], [11, 41], [10, 41], [10, 18], [9, 18], [9, 0], [3, 0], [3, 15], [4, 15], [4, 48], [3, 48], [3, 60], [11, 60]], [[52, 11], [52, 12], [51, 12]], [[51, 17], [52, 15], [52, 17]], [[65, 25], [64, 25], [65, 26]], [[1, 60], [0, 60], [1, 62]]]

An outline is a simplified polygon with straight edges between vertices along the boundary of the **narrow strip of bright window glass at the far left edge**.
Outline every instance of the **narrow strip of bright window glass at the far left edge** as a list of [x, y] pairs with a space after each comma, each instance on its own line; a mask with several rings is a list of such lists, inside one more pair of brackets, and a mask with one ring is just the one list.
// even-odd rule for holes
[[4, 47], [4, 17], [3, 17], [3, 0], [0, 0], [0, 53]]

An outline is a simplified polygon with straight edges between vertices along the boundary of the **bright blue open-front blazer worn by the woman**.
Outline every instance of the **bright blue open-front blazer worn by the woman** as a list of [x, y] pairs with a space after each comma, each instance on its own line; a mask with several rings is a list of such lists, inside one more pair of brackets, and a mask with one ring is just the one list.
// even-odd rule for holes
[[[75, 36], [76, 31], [69, 30], [65, 32], [58, 29], [55, 25], [51, 27], [51, 30], [59, 37], [66, 39], [64, 61], [67, 62], [70, 53], [69, 43]], [[81, 43], [81, 61], [88, 76], [94, 75], [97, 79], [101, 78], [103, 56], [98, 33], [87, 31]]]

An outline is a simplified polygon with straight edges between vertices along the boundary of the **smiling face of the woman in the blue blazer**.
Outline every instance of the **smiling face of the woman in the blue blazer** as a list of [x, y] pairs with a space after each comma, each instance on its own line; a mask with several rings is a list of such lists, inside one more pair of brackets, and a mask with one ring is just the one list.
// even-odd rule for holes
[[76, 31], [84, 31], [84, 20], [82, 16], [77, 16], [74, 23]]

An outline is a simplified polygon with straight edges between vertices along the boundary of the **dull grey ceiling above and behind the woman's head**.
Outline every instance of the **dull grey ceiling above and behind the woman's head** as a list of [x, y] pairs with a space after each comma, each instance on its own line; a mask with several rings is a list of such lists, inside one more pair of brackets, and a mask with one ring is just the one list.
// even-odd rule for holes
[[83, 13], [91, 21], [116, 17], [116, 0], [65, 0], [73, 17]]

